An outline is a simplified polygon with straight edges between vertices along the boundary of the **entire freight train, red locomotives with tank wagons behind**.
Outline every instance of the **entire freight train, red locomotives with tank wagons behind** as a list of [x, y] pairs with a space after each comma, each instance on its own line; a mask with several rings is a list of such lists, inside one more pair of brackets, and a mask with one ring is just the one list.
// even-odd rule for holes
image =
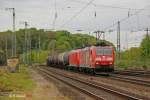
[[91, 46], [48, 56], [48, 66], [97, 73], [114, 71], [114, 48]]

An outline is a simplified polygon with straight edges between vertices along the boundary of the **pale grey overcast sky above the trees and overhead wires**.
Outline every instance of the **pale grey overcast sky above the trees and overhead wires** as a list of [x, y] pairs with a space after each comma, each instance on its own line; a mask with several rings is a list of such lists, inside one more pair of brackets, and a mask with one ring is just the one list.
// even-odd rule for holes
[[[24, 27], [20, 24], [21, 21], [27, 21], [30, 27], [93, 32], [103, 30], [118, 20], [128, 17], [128, 15], [131, 16], [139, 9], [150, 5], [150, 0], [93, 0], [91, 4], [85, 7], [90, 1], [56, 0], [55, 6], [55, 0], [0, 0], [0, 31], [12, 30], [12, 13], [5, 10], [7, 7], [16, 9], [16, 29]], [[85, 9], [79, 12], [84, 7]], [[130, 10], [126, 8], [130, 8]], [[54, 25], [56, 12], [57, 18]], [[138, 15], [121, 23], [122, 44], [126, 45], [127, 39], [130, 42], [140, 42], [144, 33], [141, 32], [142, 36], [136, 33], [132, 36], [129, 35], [131, 33], [129, 31], [137, 31], [149, 26], [150, 7], [147, 7]], [[106, 39], [114, 43], [116, 43], [116, 27], [109, 27], [114, 32], [106, 35]]]

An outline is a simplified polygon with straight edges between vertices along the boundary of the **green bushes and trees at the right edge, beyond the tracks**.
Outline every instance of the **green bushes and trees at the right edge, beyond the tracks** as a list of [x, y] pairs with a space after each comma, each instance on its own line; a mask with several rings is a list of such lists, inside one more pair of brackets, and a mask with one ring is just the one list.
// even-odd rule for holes
[[123, 69], [150, 69], [150, 36], [146, 36], [139, 47], [132, 47], [121, 52], [121, 59], [116, 65]]

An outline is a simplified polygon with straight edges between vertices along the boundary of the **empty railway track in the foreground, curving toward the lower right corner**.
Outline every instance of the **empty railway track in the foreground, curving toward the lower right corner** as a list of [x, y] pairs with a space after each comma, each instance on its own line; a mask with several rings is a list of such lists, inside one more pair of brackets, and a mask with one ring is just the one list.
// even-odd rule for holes
[[38, 67], [37, 70], [44, 76], [50, 78], [54, 77], [65, 84], [74, 87], [81, 92], [97, 99], [97, 100], [146, 100], [146, 97], [139, 95], [127, 93], [124, 91], [118, 91], [110, 86], [104, 84], [96, 84], [89, 80], [83, 80], [80, 78], [75, 78], [73, 76], [68, 76], [66, 74], [58, 73], [54, 68]]

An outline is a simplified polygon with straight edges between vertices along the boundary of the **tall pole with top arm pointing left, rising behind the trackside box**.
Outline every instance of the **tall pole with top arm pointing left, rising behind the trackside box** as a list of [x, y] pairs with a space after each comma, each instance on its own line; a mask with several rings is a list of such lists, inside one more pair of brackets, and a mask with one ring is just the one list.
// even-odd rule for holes
[[16, 56], [15, 8], [6, 8], [13, 12], [12, 57]]

